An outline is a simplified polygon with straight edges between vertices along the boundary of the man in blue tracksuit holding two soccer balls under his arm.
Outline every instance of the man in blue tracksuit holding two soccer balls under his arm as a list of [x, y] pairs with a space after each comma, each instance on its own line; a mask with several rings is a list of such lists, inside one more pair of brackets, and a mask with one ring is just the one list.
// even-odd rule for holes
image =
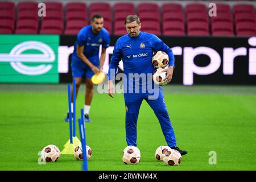
[[[152, 83], [152, 73], [155, 71], [155, 68], [152, 65], [153, 53], [156, 51], [164, 51], [169, 56], [169, 67], [166, 69], [167, 82], [171, 81], [174, 71], [174, 54], [172, 53], [172, 50], [157, 36], [140, 31], [141, 22], [137, 15], [127, 16], [125, 26], [128, 34], [117, 40], [112, 59], [110, 61], [108, 94], [110, 97], [113, 97], [114, 77], [118, 69], [119, 61], [122, 59], [123, 72], [126, 77], [123, 79], [126, 107], [126, 142], [128, 146], [137, 146], [137, 119], [139, 108], [142, 101], [146, 100], [148, 105], [150, 105], [154, 110], [154, 113], [160, 122], [160, 126], [168, 146], [179, 151], [181, 155], [185, 155], [187, 154], [187, 151], [180, 150], [179, 147], [176, 146], [174, 129], [168, 115], [166, 102], [164, 102], [162, 88]], [[141, 79], [142, 77], [136, 78], [136, 76], [134, 76], [141, 76], [143, 74], [150, 75], [150, 79], [143, 82]], [[136, 80], [139, 82], [136, 83]], [[150, 98], [150, 96], [152, 96], [152, 92], [148, 89], [150, 82], [154, 87], [154, 90], [158, 92], [158, 97], [154, 99]], [[145, 85], [147, 86], [145, 87]], [[139, 90], [136, 89], [138, 86]]]

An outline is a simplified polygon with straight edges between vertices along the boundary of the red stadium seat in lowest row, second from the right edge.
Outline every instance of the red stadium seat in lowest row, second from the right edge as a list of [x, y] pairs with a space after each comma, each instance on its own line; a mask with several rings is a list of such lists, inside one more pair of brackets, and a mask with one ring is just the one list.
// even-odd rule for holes
[[214, 36], [233, 36], [232, 22], [215, 22], [212, 23], [212, 35]]

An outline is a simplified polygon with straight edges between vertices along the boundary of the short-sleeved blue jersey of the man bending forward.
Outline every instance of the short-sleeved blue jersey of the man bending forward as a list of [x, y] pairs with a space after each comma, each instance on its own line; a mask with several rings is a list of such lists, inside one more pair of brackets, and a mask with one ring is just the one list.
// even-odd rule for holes
[[[102, 45], [103, 48], [108, 48], [110, 43], [110, 37], [108, 31], [102, 27], [98, 34], [94, 34], [92, 31], [92, 25], [85, 26], [77, 34], [77, 41], [74, 46], [73, 57], [80, 59], [76, 54], [76, 46], [84, 46], [84, 55], [95, 63], [99, 61], [99, 50]], [[93, 59], [92, 59], [93, 58]]]

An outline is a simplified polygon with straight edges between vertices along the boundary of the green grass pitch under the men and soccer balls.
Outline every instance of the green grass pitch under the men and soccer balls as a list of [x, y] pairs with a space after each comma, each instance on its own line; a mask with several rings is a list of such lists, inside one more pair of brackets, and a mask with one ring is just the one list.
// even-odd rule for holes
[[[84, 85], [77, 98], [77, 118], [84, 104]], [[97, 88], [95, 88], [95, 91]], [[125, 165], [125, 105], [122, 94], [114, 99], [95, 93], [86, 123], [86, 142], [92, 148], [89, 170], [255, 170], [256, 87], [163, 87], [177, 145], [188, 151], [177, 167], [155, 159], [166, 145], [153, 111], [143, 101], [138, 118], [141, 162]], [[67, 85], [0, 85], [0, 170], [81, 170], [73, 155], [56, 163], [38, 164], [38, 152], [47, 144], [63, 150], [69, 139]], [[80, 138], [77, 126], [77, 137]], [[215, 151], [217, 164], [209, 164]]]

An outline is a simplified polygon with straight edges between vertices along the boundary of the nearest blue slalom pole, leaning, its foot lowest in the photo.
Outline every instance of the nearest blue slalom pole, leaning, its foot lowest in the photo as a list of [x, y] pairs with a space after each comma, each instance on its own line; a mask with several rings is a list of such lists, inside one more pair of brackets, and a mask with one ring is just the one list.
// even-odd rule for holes
[[82, 170], [88, 171], [87, 152], [86, 152], [86, 134], [85, 134], [85, 124], [84, 124], [84, 109], [81, 109], [81, 119], [79, 119], [79, 130], [80, 130], [80, 138], [81, 138], [82, 153], [83, 153]]

